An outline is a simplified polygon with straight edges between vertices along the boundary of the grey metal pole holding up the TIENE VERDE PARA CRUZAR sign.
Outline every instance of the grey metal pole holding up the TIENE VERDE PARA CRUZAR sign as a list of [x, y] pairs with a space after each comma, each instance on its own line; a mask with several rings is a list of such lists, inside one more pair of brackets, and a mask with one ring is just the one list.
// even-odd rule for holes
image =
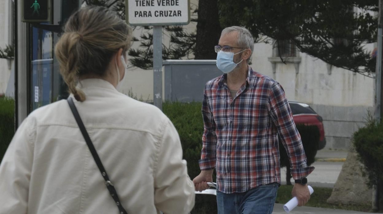
[[153, 101], [162, 111], [162, 26], [153, 26]]

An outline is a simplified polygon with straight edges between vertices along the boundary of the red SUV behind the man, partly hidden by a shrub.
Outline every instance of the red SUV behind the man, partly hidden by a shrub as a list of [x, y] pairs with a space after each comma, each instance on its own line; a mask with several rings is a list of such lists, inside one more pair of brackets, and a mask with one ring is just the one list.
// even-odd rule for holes
[[295, 124], [306, 124], [318, 126], [319, 133], [319, 149], [326, 146], [326, 137], [324, 137], [323, 119], [319, 116], [308, 104], [289, 101], [291, 111], [293, 112], [293, 119]]

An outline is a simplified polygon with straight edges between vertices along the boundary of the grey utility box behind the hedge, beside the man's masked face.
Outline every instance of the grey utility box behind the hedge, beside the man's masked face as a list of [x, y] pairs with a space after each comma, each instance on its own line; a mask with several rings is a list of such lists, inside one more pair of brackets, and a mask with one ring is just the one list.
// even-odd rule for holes
[[216, 60], [164, 60], [166, 101], [201, 102], [206, 82], [221, 76]]

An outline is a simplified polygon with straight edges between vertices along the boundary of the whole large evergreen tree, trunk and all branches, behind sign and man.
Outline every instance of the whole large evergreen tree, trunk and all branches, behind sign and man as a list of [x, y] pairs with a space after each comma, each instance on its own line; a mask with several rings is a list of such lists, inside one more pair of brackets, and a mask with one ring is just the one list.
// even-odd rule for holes
[[[124, 0], [86, 2], [110, 7], [125, 18]], [[164, 26], [170, 45], [163, 44], [163, 59], [215, 59], [212, 50], [223, 27], [238, 25], [248, 28], [255, 42], [270, 42], [271, 38], [278, 50], [283, 42], [291, 41], [299, 51], [336, 67], [367, 76], [375, 72], [376, 57], [364, 47], [376, 41], [377, 19], [372, 15], [378, 11], [375, 0], [204, 0], [199, 1], [198, 9], [196, 5], [191, 8], [194, 16], [198, 13], [198, 18], [191, 20], [197, 22], [196, 31]], [[151, 69], [151, 27], [134, 29], [144, 33], [134, 38], [140, 45], [129, 50], [130, 62]]]

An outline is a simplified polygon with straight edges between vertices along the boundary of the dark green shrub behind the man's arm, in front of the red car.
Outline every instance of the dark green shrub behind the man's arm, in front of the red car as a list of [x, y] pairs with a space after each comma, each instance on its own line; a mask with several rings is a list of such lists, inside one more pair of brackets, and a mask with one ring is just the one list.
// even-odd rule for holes
[[[307, 165], [309, 166], [314, 163], [315, 155], [318, 151], [320, 138], [319, 129], [317, 126], [306, 126], [304, 124], [297, 124], [296, 129], [298, 129], [298, 132], [301, 135], [304, 153], [307, 158]], [[281, 167], [286, 167], [286, 184], [291, 184], [290, 160], [281, 140], [279, 140], [279, 154]]]

